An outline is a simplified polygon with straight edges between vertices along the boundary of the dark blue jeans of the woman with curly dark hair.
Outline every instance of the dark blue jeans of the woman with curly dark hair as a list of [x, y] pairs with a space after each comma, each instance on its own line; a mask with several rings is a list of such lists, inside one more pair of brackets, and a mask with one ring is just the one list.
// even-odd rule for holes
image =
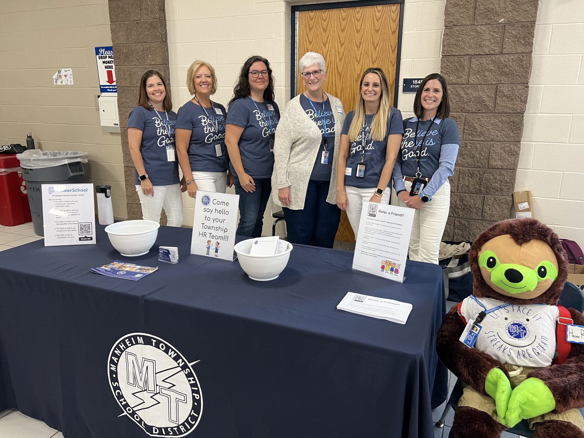
[[246, 192], [235, 177], [235, 193], [239, 195], [239, 225], [237, 234], [246, 237], [261, 237], [263, 228], [263, 212], [272, 192], [270, 178], [254, 178], [255, 192]]

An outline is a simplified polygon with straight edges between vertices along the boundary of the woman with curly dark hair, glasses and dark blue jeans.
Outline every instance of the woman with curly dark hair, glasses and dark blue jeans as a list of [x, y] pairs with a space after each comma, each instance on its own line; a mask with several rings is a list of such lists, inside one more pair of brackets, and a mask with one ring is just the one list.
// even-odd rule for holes
[[274, 136], [279, 120], [270, 63], [252, 56], [239, 72], [225, 126], [225, 144], [239, 195], [239, 235], [262, 235], [263, 213], [272, 192]]

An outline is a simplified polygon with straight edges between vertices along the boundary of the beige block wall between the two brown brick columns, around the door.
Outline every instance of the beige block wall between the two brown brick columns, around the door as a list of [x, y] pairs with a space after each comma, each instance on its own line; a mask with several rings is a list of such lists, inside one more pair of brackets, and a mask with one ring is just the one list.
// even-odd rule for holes
[[[283, 109], [290, 96], [290, 6], [300, 3], [304, 2], [215, 0], [206, 5], [210, 7], [201, 8], [194, 0], [166, 0], [175, 109], [191, 98], [185, 83], [191, 62], [200, 58], [214, 65], [219, 88], [213, 99], [225, 105], [231, 99], [239, 68], [253, 54], [270, 61], [276, 102]], [[406, 0], [401, 78], [439, 71], [444, 4], [445, 0]], [[398, 100], [399, 109], [412, 111], [413, 95], [400, 92]], [[192, 225], [194, 203], [187, 196], [183, 199], [185, 225]], [[271, 208], [279, 209], [270, 204], [266, 208], [264, 235], [272, 232]]]

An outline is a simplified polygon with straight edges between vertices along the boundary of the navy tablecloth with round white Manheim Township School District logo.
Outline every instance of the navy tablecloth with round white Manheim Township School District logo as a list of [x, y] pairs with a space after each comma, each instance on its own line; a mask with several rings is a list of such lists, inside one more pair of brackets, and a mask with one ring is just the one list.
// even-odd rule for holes
[[[297, 245], [278, 279], [259, 282], [237, 260], [189, 255], [190, 234], [161, 227], [154, 248], [137, 258], [117, 253], [103, 227], [96, 245], [37, 241], [0, 252], [0, 411], [18, 408], [65, 438], [434, 436], [432, 405], [446, 398], [435, 352], [445, 313], [439, 266], [408, 262], [399, 284], [352, 270], [350, 252]], [[158, 245], [178, 246], [180, 262], [158, 262]], [[139, 281], [90, 272], [116, 259], [159, 270]], [[405, 325], [336, 310], [347, 291], [413, 310]], [[189, 397], [198, 402], [181, 426], [151, 429], [171, 420], [173, 403], [179, 413], [188, 403], [176, 401], [180, 391], [168, 395], [180, 385], [168, 371], [158, 375], [164, 361], [144, 361], [152, 349], [136, 350], [138, 337], [168, 343], [168, 358], [174, 349], [174, 361], [192, 363]], [[126, 367], [112, 367], [122, 356]], [[116, 397], [126, 408], [134, 396], [116, 396], [118, 372], [145, 403], [128, 415]]]

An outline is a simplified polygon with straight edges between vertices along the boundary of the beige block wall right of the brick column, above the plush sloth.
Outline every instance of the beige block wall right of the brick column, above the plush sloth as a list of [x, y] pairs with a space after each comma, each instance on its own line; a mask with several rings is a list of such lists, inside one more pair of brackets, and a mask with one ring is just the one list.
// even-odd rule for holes
[[584, 7], [540, 2], [515, 190], [535, 217], [584, 246]]

